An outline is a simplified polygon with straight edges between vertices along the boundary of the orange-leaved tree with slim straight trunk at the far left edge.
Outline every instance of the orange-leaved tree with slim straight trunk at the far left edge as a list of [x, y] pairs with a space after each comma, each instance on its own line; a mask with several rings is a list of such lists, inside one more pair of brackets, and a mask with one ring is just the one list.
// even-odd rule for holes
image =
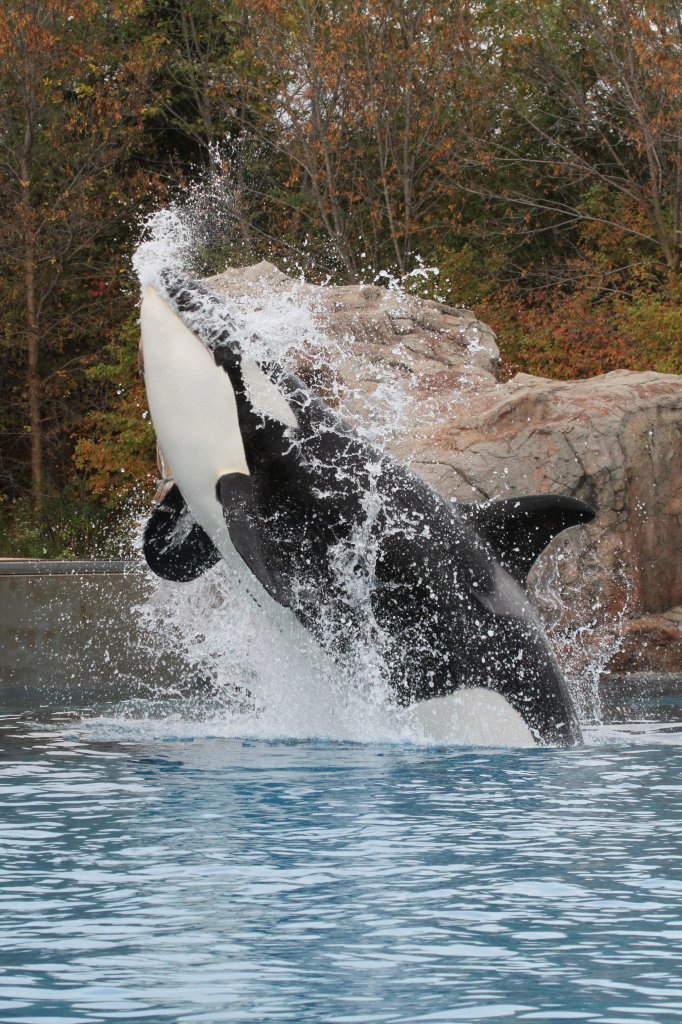
[[[132, 166], [151, 63], [131, 29], [136, 3], [0, 0], [0, 265], [3, 355], [25, 359], [22, 424], [5, 408], [3, 483], [22, 493], [24, 438], [40, 515], [46, 486], [46, 402], [66, 369], [96, 343], [118, 293], [126, 221], [146, 179]], [[114, 264], [114, 265], [113, 265]], [[58, 416], [57, 416], [58, 419]]]

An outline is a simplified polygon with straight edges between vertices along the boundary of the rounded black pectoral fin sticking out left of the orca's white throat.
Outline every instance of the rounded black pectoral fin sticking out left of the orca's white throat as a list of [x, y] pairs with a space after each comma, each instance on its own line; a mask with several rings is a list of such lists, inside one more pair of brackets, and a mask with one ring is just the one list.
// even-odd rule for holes
[[193, 519], [177, 484], [147, 519], [142, 551], [153, 572], [175, 583], [196, 580], [220, 558], [208, 534]]

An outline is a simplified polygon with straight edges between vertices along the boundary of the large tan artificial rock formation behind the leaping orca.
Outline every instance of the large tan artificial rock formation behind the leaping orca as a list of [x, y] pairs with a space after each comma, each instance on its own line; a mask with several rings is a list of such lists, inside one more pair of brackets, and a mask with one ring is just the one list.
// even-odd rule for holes
[[207, 284], [252, 303], [290, 295], [306, 305], [334, 351], [319, 373], [311, 341], [299, 371], [365, 424], [379, 410], [389, 449], [446, 497], [592, 503], [595, 522], [553, 542], [531, 573], [550, 633], [559, 644], [572, 637], [571, 657], [578, 631], [592, 663], [599, 646], [615, 670], [682, 671], [682, 378], [500, 383], [495, 335], [470, 310], [375, 286], [301, 284], [268, 263]]

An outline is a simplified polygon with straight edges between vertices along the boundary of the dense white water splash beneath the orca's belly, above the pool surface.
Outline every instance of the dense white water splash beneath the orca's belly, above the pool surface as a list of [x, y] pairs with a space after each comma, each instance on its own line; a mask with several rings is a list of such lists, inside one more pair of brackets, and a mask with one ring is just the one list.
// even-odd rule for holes
[[208, 714], [221, 734], [404, 738], [386, 728], [374, 689], [357, 684], [358, 667], [337, 664], [286, 609], [259, 605], [224, 561], [184, 585], [181, 601], [160, 581], [139, 613], [155, 644], [182, 658], [196, 695], [160, 690], [182, 698], [185, 717]]

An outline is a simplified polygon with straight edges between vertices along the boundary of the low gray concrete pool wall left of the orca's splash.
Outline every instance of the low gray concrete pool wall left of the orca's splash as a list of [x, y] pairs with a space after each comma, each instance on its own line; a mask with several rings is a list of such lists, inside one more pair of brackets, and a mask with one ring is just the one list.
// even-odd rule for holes
[[0, 560], [0, 702], [82, 705], [181, 677], [140, 627], [147, 588], [133, 563]]

